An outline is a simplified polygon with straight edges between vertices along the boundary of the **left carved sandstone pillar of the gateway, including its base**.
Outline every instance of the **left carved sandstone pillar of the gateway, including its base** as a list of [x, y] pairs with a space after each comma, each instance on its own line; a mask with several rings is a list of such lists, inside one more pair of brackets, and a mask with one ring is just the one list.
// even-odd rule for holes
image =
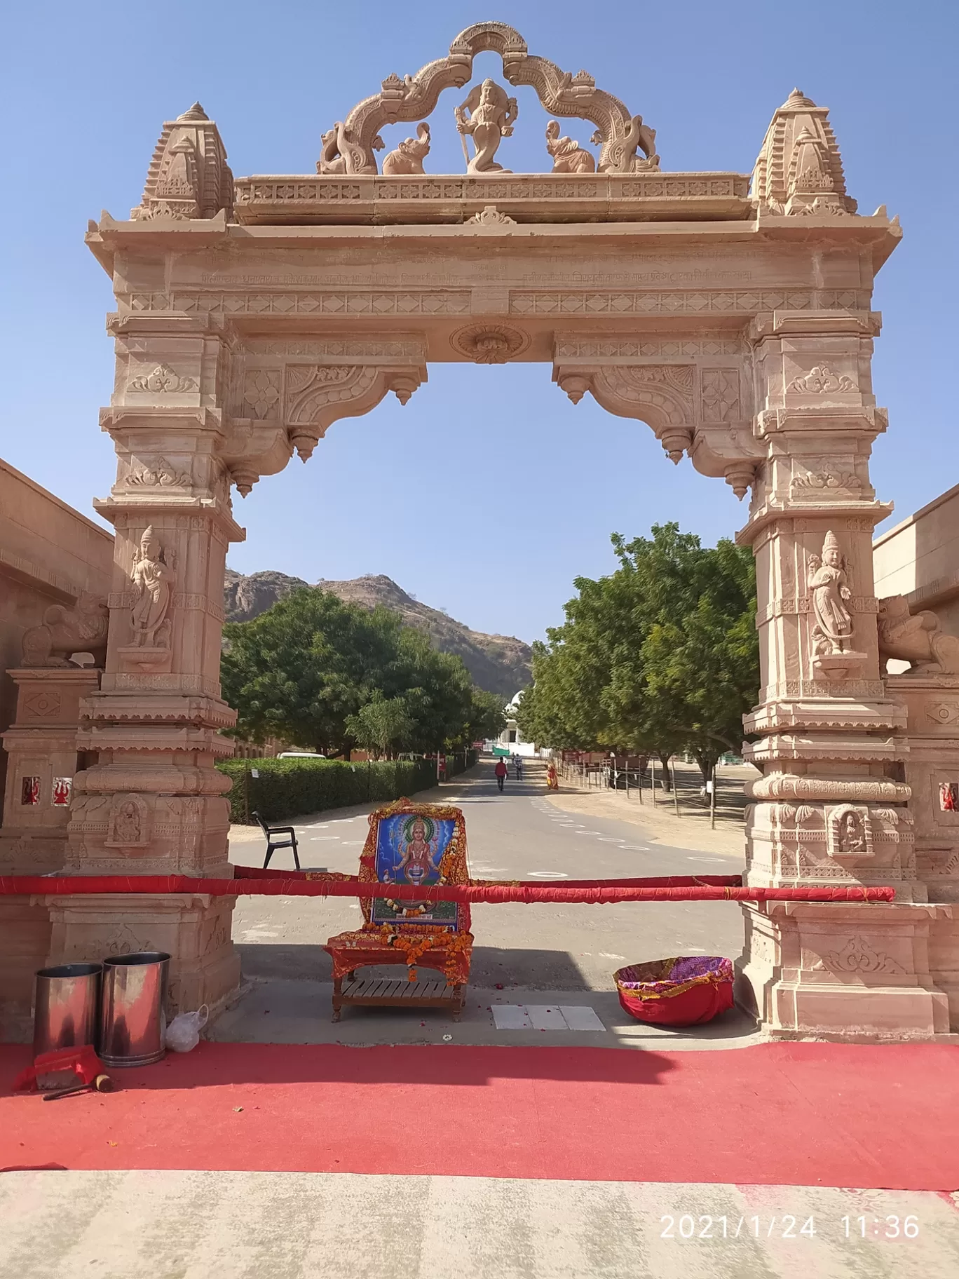
[[[106, 669], [82, 706], [66, 871], [229, 877], [233, 755], [220, 730], [235, 715], [220, 696], [226, 547], [231, 514], [222, 460], [231, 335], [206, 317], [121, 315], [118, 376], [101, 414], [118, 478], [97, 510], [116, 530]], [[286, 453], [286, 457], [289, 453]], [[285, 459], [284, 459], [285, 460]], [[170, 1010], [221, 1004], [239, 959], [221, 898], [83, 898], [51, 902], [51, 959], [137, 949], [173, 955]]]

